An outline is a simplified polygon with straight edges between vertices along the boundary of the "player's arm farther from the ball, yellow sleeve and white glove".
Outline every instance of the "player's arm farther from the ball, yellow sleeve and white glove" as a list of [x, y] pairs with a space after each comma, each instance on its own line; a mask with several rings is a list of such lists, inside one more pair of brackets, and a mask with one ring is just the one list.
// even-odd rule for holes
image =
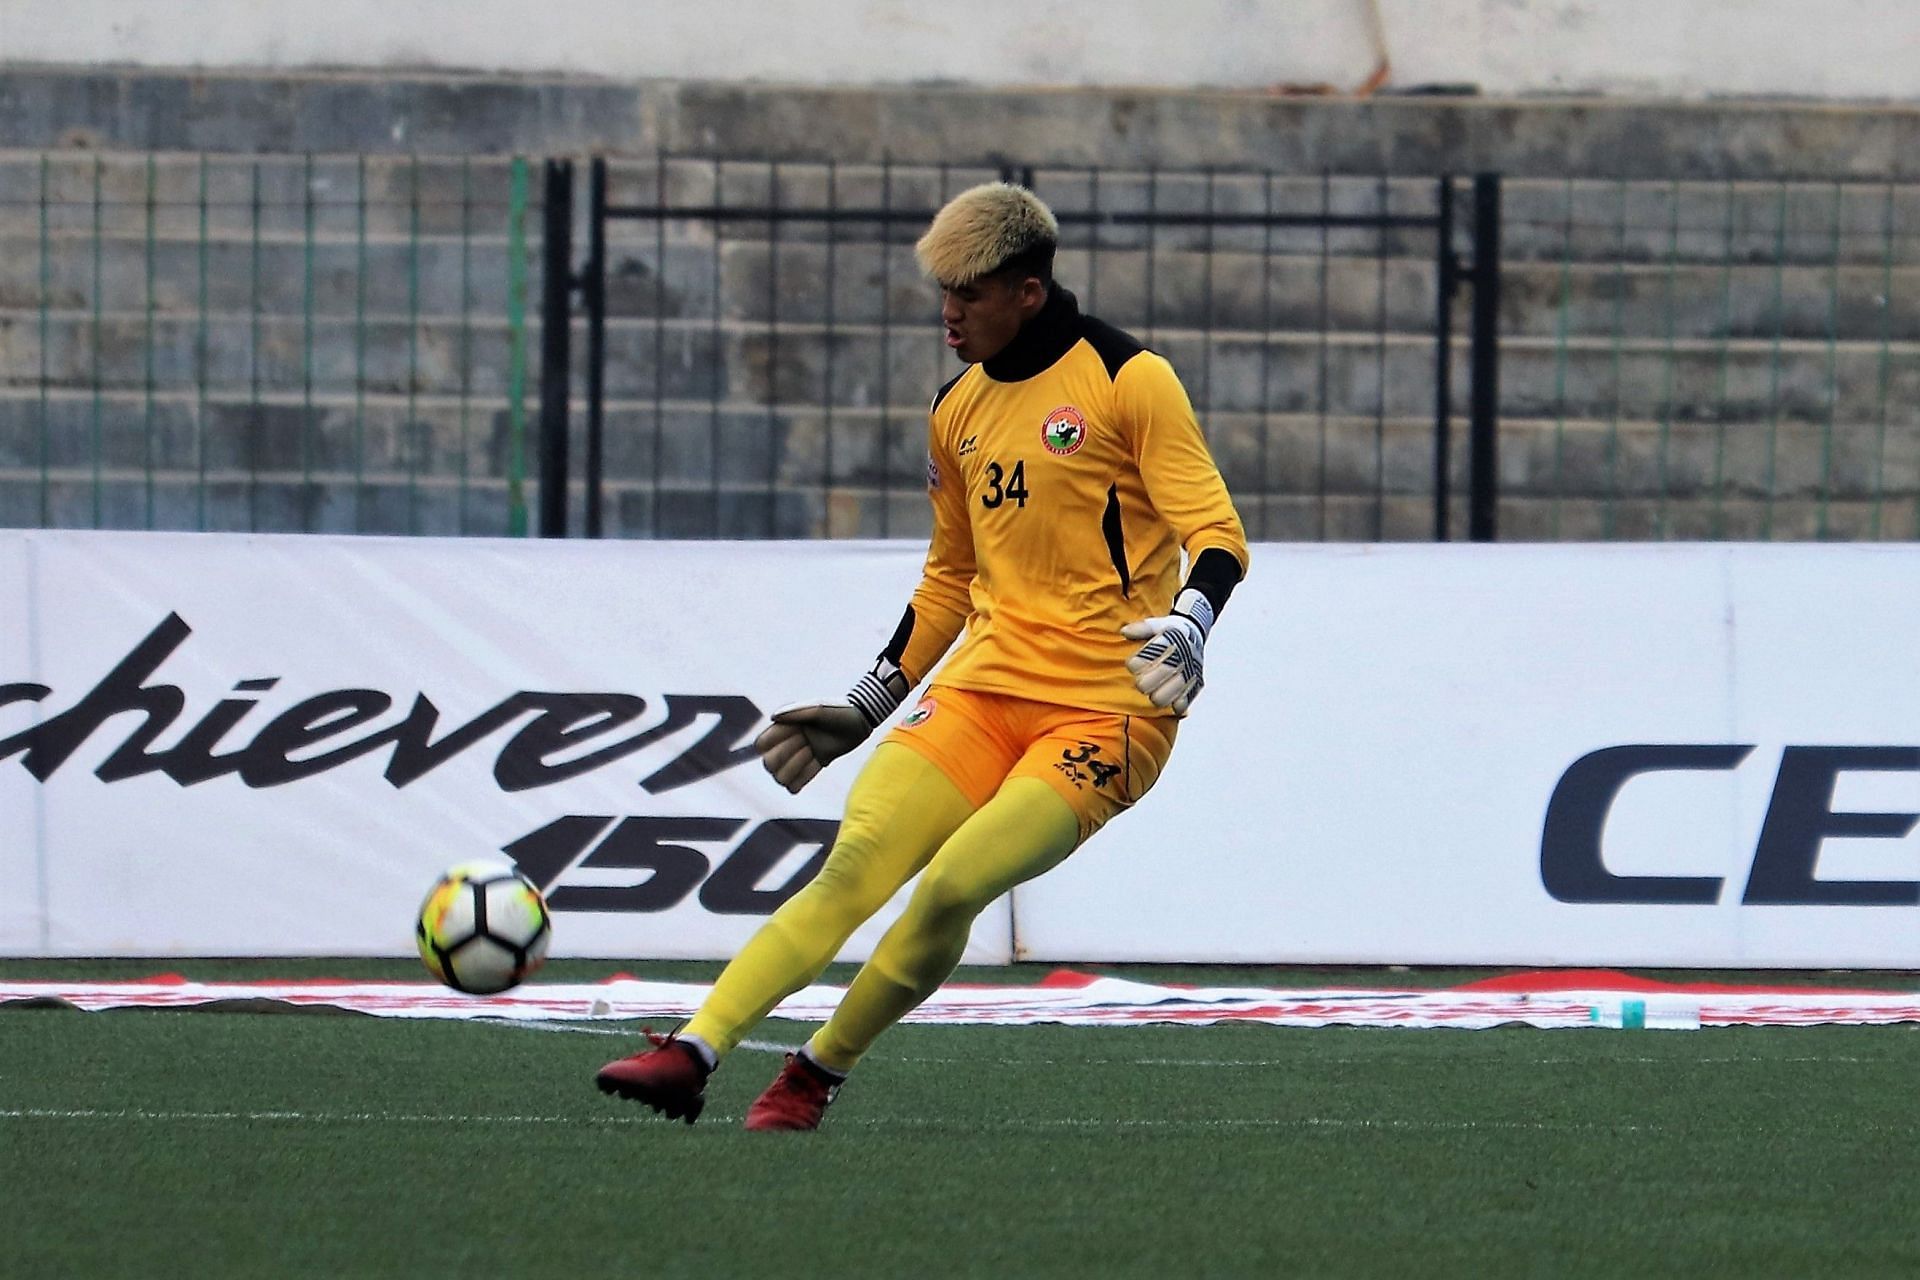
[[1142, 641], [1127, 670], [1154, 706], [1185, 714], [1206, 683], [1206, 637], [1246, 576], [1246, 530], [1173, 367], [1142, 351], [1121, 367], [1114, 391], [1148, 499], [1173, 526], [1188, 566], [1171, 612], [1121, 628]]

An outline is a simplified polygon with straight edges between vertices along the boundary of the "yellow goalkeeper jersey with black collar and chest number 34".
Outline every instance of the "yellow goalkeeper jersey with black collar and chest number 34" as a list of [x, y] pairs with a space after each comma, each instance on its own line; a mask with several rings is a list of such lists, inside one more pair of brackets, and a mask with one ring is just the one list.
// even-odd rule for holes
[[941, 388], [927, 495], [933, 541], [895, 645], [914, 683], [964, 626], [943, 685], [1162, 716], [1121, 626], [1171, 610], [1183, 549], [1246, 568], [1173, 367], [1058, 286], [1006, 351]]

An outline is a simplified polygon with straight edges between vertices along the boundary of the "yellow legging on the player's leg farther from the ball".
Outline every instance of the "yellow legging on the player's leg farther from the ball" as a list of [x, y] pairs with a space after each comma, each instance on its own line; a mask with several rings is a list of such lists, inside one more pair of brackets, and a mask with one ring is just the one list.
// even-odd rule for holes
[[952, 833], [914, 896], [854, 975], [847, 998], [808, 1048], [829, 1071], [851, 1071], [874, 1040], [931, 996], [960, 963], [973, 919], [1079, 844], [1079, 818], [1037, 777], [1014, 777]]

